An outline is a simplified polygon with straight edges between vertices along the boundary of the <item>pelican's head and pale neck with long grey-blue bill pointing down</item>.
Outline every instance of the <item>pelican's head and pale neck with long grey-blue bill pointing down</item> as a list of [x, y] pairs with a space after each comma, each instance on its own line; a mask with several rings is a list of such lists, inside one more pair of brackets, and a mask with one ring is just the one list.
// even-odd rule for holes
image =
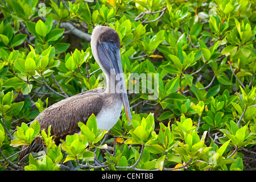
[[[125, 80], [123, 78], [120, 55], [120, 39], [117, 32], [110, 27], [96, 26], [93, 29], [90, 43], [94, 59], [105, 73], [107, 81], [110, 81], [110, 77], [112, 75], [114, 75], [115, 80], [120, 80], [121, 87], [119, 88], [121, 88], [121, 90], [119, 90], [120, 92], [118, 93], [120, 93], [122, 96], [126, 117], [128, 121], [130, 121], [131, 111], [126, 93]], [[117, 88], [115, 84], [117, 84], [116, 81], [114, 81], [114, 89]]]

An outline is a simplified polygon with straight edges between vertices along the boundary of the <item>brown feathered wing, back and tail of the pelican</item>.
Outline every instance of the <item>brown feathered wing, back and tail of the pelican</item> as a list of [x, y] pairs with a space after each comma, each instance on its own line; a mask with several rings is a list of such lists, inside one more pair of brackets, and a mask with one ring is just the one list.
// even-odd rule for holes
[[[51, 126], [51, 135], [55, 135], [55, 143], [59, 144], [60, 139], [80, 131], [79, 122], [86, 123], [90, 115], [99, 113], [103, 105], [102, 93], [105, 90], [106, 88], [96, 88], [61, 100], [42, 111], [34, 121], [38, 120], [41, 130], [46, 132]], [[41, 150], [42, 139], [36, 138], [30, 146], [22, 146], [20, 162], [28, 156], [27, 154]]]

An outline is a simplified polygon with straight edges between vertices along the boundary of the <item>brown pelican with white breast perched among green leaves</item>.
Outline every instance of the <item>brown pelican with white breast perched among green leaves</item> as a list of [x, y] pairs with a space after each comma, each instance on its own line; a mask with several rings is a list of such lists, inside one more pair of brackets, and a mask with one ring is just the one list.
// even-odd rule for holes
[[[38, 120], [41, 130], [47, 131], [51, 126], [56, 144], [67, 135], [78, 133], [78, 123], [86, 123], [92, 114], [96, 115], [98, 129], [112, 129], [120, 117], [122, 106], [127, 120], [131, 120], [117, 32], [110, 27], [96, 26], [92, 32], [91, 47], [94, 59], [106, 76], [106, 88], [88, 90], [61, 100], [42, 111], [34, 120]], [[43, 145], [40, 138], [36, 138], [30, 146], [24, 145], [19, 160], [26, 159], [31, 152], [42, 151]]]

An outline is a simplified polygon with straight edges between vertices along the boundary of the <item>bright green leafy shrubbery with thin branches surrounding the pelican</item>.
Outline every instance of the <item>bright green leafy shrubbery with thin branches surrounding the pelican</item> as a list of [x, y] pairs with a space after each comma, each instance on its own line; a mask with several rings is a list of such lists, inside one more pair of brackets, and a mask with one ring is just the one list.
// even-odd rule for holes
[[[255, 1], [0, 3], [0, 169], [255, 169]], [[129, 94], [131, 125], [122, 114], [103, 139], [92, 116], [56, 146], [26, 123], [104, 81], [89, 43], [98, 24], [118, 32], [127, 77], [159, 73], [158, 98]], [[36, 137], [47, 155], [21, 166]]]

